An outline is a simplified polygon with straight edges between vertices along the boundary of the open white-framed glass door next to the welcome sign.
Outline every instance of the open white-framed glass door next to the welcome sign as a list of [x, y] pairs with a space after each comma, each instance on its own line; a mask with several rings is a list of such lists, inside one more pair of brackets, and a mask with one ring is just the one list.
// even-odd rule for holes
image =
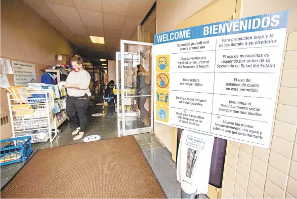
[[[121, 40], [120, 97], [122, 135], [153, 130], [153, 44]], [[118, 63], [119, 63], [118, 62]]]

